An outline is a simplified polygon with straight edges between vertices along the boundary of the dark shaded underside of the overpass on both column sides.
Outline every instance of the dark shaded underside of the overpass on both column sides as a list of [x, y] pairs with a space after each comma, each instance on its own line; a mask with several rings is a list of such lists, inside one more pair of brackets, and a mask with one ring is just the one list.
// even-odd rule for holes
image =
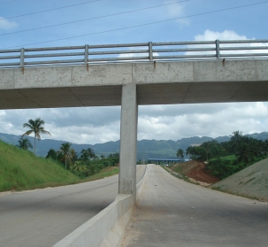
[[[121, 105], [122, 86], [0, 90], [0, 109]], [[173, 82], [137, 85], [138, 104], [268, 101], [268, 81]]]

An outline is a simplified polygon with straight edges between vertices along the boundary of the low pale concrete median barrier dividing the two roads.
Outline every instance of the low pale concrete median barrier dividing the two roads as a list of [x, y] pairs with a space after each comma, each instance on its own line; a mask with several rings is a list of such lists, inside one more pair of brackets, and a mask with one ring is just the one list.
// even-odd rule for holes
[[[142, 180], [137, 184], [137, 201], [142, 194], [147, 167]], [[114, 202], [95, 217], [75, 229], [53, 247], [117, 247], [120, 246], [133, 210], [133, 196], [119, 194]]]

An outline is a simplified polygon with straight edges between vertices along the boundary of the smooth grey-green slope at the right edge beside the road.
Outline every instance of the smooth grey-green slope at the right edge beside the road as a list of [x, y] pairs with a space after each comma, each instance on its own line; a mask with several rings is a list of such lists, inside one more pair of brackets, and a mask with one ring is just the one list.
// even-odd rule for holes
[[218, 181], [211, 188], [268, 201], [268, 158]]

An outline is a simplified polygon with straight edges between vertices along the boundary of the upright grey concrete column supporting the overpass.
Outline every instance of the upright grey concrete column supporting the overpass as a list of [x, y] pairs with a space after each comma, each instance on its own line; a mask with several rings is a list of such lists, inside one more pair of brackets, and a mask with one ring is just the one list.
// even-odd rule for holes
[[136, 201], [136, 146], [138, 104], [135, 84], [122, 86], [119, 194], [132, 194]]

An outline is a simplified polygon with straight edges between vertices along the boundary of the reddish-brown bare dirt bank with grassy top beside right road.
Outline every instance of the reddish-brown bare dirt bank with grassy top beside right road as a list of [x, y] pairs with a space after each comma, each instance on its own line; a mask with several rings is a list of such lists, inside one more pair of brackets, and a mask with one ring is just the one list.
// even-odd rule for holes
[[190, 160], [185, 163], [179, 163], [171, 167], [172, 171], [179, 174], [184, 174], [188, 178], [194, 179], [194, 181], [201, 181], [205, 183], [204, 185], [210, 185], [211, 183], [219, 181], [219, 179], [209, 171], [206, 170], [203, 162], [197, 162], [195, 160]]

